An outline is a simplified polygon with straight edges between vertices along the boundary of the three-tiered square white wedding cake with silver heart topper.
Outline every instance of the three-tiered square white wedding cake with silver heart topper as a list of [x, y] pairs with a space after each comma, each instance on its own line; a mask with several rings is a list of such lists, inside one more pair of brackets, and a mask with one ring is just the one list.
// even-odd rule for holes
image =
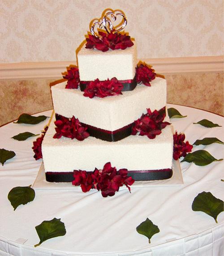
[[[138, 64], [136, 42], [119, 33], [126, 24], [123, 13], [105, 13], [79, 49], [78, 68], [52, 86], [55, 114], [42, 143], [47, 181], [73, 181], [73, 170], [93, 172], [108, 162], [135, 181], [172, 176], [166, 80]], [[106, 32], [97, 34], [96, 25]]]

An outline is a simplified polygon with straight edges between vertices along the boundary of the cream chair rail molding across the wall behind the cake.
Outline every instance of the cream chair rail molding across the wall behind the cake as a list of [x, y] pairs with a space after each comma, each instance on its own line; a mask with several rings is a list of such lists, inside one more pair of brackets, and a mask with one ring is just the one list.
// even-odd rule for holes
[[[141, 61], [150, 64], [156, 73], [162, 75], [224, 71], [224, 56], [152, 58]], [[0, 80], [61, 78], [66, 66], [76, 64], [74, 61], [1, 63]]]

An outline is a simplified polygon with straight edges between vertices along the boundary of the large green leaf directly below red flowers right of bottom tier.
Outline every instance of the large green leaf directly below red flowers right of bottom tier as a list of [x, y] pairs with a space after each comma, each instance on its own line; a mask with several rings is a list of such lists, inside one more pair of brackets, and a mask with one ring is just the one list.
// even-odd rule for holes
[[221, 161], [223, 159], [215, 159], [206, 150], [197, 150], [192, 153], [188, 153], [181, 162], [195, 163], [199, 166], [205, 166], [212, 162]]

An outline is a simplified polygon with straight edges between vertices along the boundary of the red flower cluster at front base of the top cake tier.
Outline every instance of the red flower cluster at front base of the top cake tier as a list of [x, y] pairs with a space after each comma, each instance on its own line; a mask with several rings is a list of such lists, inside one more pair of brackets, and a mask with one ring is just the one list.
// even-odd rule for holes
[[122, 89], [123, 84], [119, 83], [115, 77], [111, 80], [107, 79], [105, 81], [99, 81], [99, 79], [95, 79], [95, 81], [91, 81], [87, 84], [83, 95], [90, 98], [95, 96], [103, 98], [107, 96], [122, 94]]

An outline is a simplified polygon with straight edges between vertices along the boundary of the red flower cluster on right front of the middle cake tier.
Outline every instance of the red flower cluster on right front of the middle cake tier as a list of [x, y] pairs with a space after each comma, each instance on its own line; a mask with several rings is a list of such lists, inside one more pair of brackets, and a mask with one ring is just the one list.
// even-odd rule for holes
[[165, 107], [153, 112], [147, 109], [147, 114], [142, 114], [141, 118], [134, 121], [131, 134], [136, 135], [139, 132], [140, 136], [146, 135], [148, 138], [154, 139], [156, 135], [161, 133], [163, 128], [170, 124], [163, 122], [165, 116]]

